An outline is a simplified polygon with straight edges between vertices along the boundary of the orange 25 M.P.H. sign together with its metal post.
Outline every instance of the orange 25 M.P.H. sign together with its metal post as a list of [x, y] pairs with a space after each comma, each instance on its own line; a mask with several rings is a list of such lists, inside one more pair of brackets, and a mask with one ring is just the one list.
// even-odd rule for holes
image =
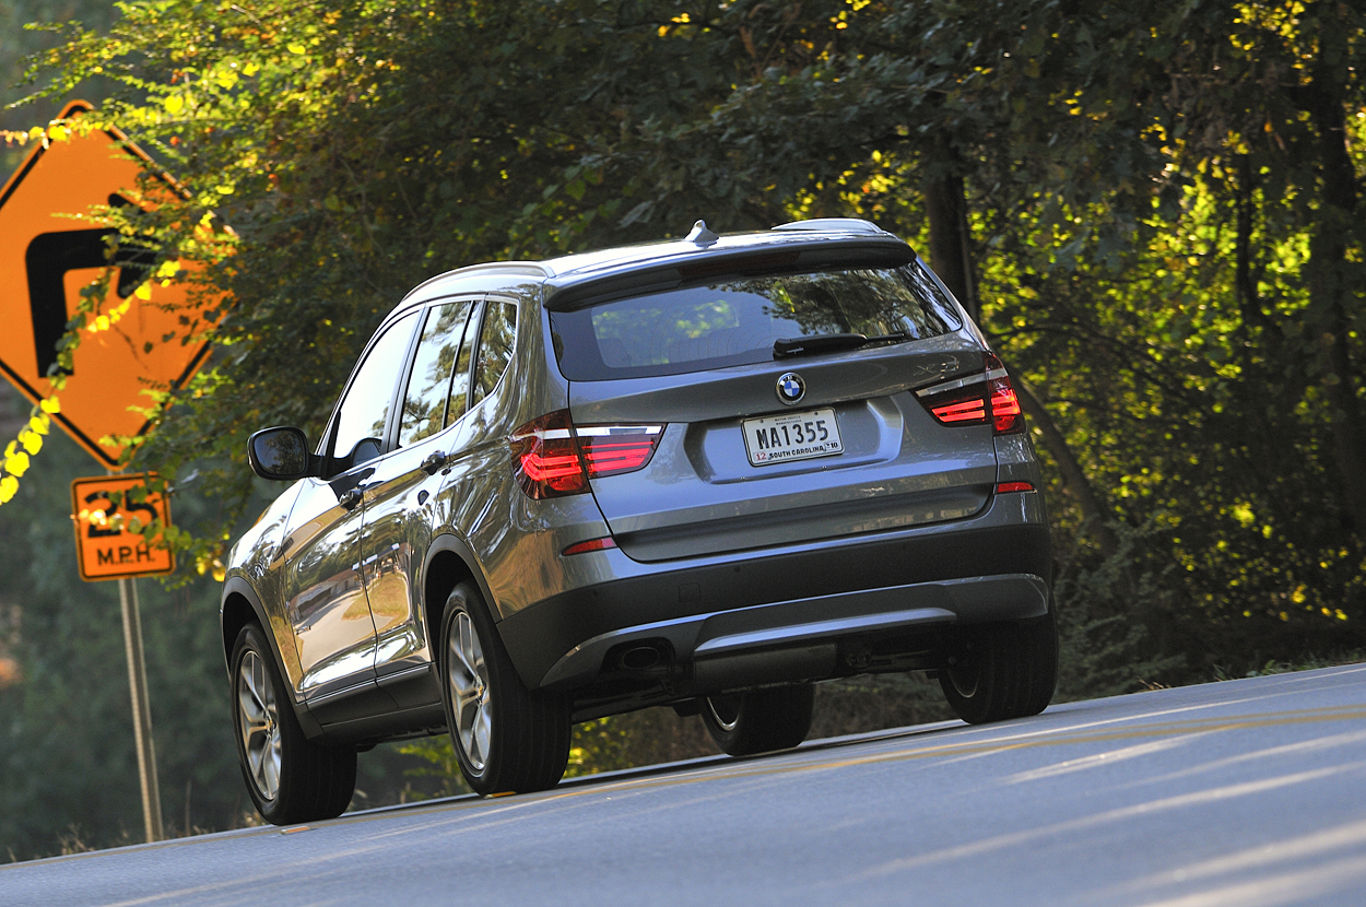
[[[165, 496], [148, 492], [134, 501], [131, 492], [145, 488], [148, 475], [97, 475], [71, 482], [71, 514], [76, 531], [76, 563], [86, 582], [119, 581], [123, 611], [123, 645], [128, 656], [128, 691], [133, 697], [133, 740], [138, 749], [138, 776], [142, 783], [142, 824], [148, 841], [165, 836], [161, 826], [161, 790], [157, 784], [157, 751], [152, 739], [152, 705], [148, 698], [148, 662], [142, 654], [142, 615], [134, 576], [168, 574], [175, 557], [167, 549], [152, 548], [142, 535], [128, 531], [137, 519], [160, 519], [171, 525], [171, 504]], [[113, 505], [120, 497], [119, 507]]]

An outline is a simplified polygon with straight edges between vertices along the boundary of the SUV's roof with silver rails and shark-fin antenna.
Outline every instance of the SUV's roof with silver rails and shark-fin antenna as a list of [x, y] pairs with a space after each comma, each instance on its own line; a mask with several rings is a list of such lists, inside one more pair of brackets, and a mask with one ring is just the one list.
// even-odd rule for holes
[[[889, 245], [906, 249], [906, 243], [895, 235], [870, 221], [851, 217], [792, 221], [772, 229], [738, 234], [713, 234], [699, 220], [683, 239], [615, 246], [545, 261], [500, 261], [458, 268], [423, 281], [404, 296], [404, 302], [417, 295], [429, 299], [433, 295], [510, 288], [525, 283], [549, 284], [549, 290], [557, 294], [571, 285], [600, 283], [635, 270], [669, 268], [693, 260], [731, 258], [795, 247], [887, 249]], [[505, 287], [497, 287], [500, 283]]]

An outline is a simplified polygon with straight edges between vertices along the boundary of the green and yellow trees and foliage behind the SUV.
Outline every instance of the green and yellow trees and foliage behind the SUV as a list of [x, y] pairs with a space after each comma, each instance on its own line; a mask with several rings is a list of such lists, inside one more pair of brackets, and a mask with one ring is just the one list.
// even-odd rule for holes
[[[979, 317], [1049, 469], [1060, 698], [1366, 652], [1361, 4], [0, 0], [0, 70], [30, 67], [7, 97], [38, 96], [0, 120], [10, 164], [86, 96], [189, 190], [115, 217], [229, 299], [168, 339], [216, 352], [133, 455], [189, 530], [179, 585], [141, 583], [178, 833], [246, 821], [212, 582], [273, 493], [246, 436], [317, 437], [428, 276], [698, 217], [870, 219]], [[11, 403], [0, 443], [27, 418]], [[90, 471], [53, 436], [0, 507], [16, 858], [139, 826], [115, 590], [76, 579], [67, 541], [66, 482]], [[817, 735], [948, 717], [915, 678], [826, 684], [817, 709]], [[663, 710], [574, 746], [578, 773], [712, 751]], [[357, 806], [460, 790], [443, 747], [362, 757]]]

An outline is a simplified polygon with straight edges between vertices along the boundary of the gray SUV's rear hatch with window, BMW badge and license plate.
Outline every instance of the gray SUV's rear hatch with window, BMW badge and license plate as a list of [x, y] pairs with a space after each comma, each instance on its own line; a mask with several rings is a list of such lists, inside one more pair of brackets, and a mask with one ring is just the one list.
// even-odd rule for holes
[[550, 321], [581, 441], [653, 432], [643, 467], [590, 479], [637, 560], [941, 523], [990, 500], [990, 421], [944, 422], [915, 393], [986, 367], [919, 261], [713, 276]]

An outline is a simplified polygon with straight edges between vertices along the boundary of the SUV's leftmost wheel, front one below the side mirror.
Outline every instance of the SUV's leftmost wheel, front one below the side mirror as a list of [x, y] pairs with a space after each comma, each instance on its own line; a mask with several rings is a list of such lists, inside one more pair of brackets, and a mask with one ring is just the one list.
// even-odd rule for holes
[[258, 624], [238, 634], [231, 664], [238, 762], [261, 818], [294, 825], [340, 815], [355, 794], [355, 749], [303, 736]]

